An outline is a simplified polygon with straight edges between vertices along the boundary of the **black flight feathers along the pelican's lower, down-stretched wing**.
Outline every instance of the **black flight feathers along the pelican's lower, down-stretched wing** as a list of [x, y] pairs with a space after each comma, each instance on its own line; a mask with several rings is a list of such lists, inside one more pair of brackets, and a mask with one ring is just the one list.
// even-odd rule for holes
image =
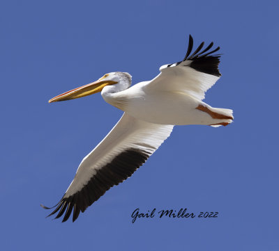
[[[112, 186], [118, 185], [140, 168], [147, 159], [149, 154], [139, 149], [127, 149], [116, 156], [110, 163], [107, 163], [103, 168], [97, 170], [96, 175], [91, 177], [88, 183], [77, 193], [65, 197], [54, 206], [56, 207], [47, 217], [57, 213], [55, 219], [63, 216], [62, 222], [66, 222], [70, 218], [73, 211], [73, 222], [77, 220], [80, 211], [83, 213], [85, 209], [93, 202], [96, 202], [102, 195], [105, 194]], [[43, 209], [53, 209], [54, 207], [45, 207]]]

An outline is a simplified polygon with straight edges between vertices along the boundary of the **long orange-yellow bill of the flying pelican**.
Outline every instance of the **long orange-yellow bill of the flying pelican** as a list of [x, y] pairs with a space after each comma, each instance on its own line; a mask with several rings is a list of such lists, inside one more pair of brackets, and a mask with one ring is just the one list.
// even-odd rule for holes
[[117, 83], [116, 81], [110, 81], [110, 80], [103, 80], [103, 78], [99, 79], [98, 81], [95, 81], [93, 83], [89, 83], [85, 86], [81, 86], [79, 88], [75, 88], [73, 90], [68, 90], [68, 92], [64, 92], [61, 95], [58, 95], [56, 97], [53, 97], [49, 100], [49, 103], [52, 102], [59, 102], [59, 101], [65, 101], [70, 99], [77, 99], [79, 97], [85, 97], [97, 92], [100, 92], [103, 90], [105, 86], [113, 85], [114, 83]]

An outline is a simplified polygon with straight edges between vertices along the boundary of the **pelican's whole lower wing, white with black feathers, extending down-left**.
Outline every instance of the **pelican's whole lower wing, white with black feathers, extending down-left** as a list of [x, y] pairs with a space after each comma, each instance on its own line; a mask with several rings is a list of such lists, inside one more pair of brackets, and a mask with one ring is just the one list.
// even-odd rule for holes
[[[173, 125], [151, 124], [124, 113], [112, 131], [80, 163], [72, 183], [56, 209], [63, 221], [73, 211], [73, 222], [112, 186], [140, 168], [172, 132]], [[48, 207], [42, 206], [45, 209]]]

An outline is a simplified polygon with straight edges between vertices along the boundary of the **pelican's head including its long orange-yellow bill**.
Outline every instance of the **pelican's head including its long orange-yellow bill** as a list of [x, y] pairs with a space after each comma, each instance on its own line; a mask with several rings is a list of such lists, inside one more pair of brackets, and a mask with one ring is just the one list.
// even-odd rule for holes
[[[119, 85], [117, 85], [119, 83]], [[97, 92], [101, 92], [105, 86], [117, 86], [117, 90], [125, 90], [130, 86], [131, 76], [126, 72], [110, 72], [102, 76], [95, 82], [89, 83], [85, 86], [69, 90], [61, 95], [53, 97], [49, 103], [65, 101], [69, 99], [77, 99], [78, 97], [85, 97]]]

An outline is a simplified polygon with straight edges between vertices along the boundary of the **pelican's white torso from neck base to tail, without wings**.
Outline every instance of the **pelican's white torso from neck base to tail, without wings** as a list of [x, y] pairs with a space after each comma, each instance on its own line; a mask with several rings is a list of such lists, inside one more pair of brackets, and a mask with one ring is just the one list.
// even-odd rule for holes
[[[232, 122], [232, 120], [214, 119], [209, 113], [204, 113], [197, 109], [204, 106], [211, 111], [218, 111], [185, 92], [174, 92], [165, 90], [160, 92], [150, 92], [149, 81], [137, 83], [121, 92], [116, 92], [110, 97], [103, 95], [105, 101], [112, 106], [116, 106], [129, 115], [154, 124], [218, 124], [221, 122]], [[225, 113], [230, 113], [226, 111]]]

